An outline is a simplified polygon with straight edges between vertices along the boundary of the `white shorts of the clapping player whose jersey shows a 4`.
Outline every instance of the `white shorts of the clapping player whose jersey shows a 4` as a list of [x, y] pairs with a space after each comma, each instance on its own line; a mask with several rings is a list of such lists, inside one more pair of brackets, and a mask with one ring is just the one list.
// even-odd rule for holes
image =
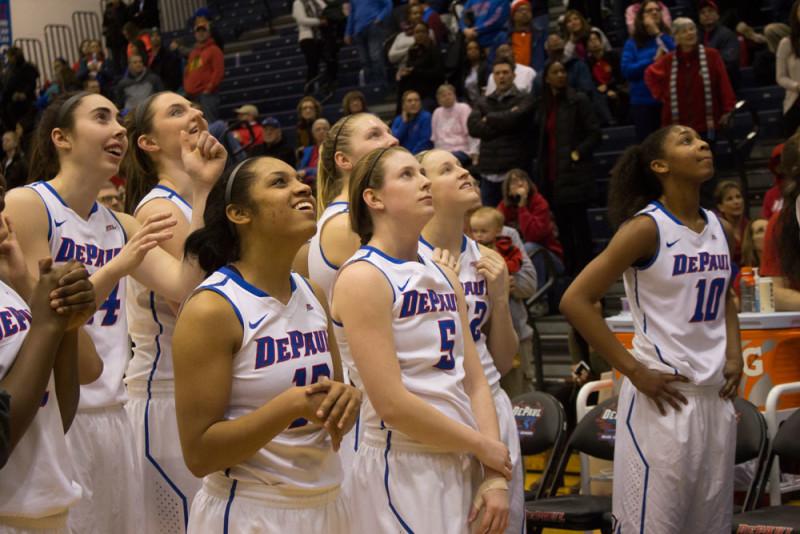
[[68, 525], [81, 534], [139, 534], [142, 489], [133, 429], [122, 405], [80, 411], [67, 432], [83, 498]]

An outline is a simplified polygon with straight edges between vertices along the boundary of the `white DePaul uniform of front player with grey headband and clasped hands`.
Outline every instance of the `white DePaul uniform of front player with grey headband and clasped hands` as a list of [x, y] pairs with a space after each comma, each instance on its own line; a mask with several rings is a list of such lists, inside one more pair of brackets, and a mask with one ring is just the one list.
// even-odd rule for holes
[[[286, 305], [232, 267], [222, 267], [196, 290], [225, 298], [242, 325], [226, 419], [251, 413], [291, 387], [333, 377], [327, 314], [308, 282], [291, 277]], [[341, 481], [328, 433], [298, 419], [247, 461], [204, 478], [189, 531], [349, 533]]]

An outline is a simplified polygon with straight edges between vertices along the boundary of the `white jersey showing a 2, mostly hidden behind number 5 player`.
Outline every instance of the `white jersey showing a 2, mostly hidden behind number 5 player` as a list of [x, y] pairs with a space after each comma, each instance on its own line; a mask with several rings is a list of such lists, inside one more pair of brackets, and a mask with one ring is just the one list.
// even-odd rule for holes
[[[419, 238], [419, 254], [425, 259], [433, 261], [433, 245]], [[461, 256], [459, 261], [461, 269], [458, 272], [458, 279], [461, 287], [464, 288], [464, 298], [467, 302], [467, 317], [469, 318], [469, 329], [472, 340], [478, 349], [478, 356], [481, 359], [483, 373], [489, 381], [489, 387], [493, 392], [500, 388], [500, 372], [494, 365], [494, 359], [489, 352], [486, 342], [486, 334], [483, 333], [483, 326], [491, 316], [491, 303], [489, 302], [489, 292], [486, 287], [486, 279], [478, 274], [475, 262], [481, 259], [481, 251], [475, 240], [464, 236], [461, 241]]]

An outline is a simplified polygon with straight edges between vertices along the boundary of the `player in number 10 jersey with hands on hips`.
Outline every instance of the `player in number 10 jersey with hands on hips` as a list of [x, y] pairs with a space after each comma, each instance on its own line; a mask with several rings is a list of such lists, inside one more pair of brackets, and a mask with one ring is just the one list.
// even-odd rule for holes
[[[628, 148], [611, 177], [608, 247], [561, 309], [624, 376], [617, 411], [617, 532], [730, 532], [742, 373], [731, 256], [719, 219], [700, 208], [714, 174], [708, 144], [670, 126]], [[635, 328], [628, 352], [594, 308], [623, 276]]]

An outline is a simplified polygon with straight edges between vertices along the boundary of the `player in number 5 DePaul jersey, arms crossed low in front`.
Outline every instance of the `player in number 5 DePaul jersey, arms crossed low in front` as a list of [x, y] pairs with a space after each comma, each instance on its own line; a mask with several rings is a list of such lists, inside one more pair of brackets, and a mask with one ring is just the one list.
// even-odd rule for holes
[[373, 150], [351, 176], [350, 223], [364, 246], [339, 273], [332, 315], [367, 395], [348, 481], [354, 532], [463, 533], [479, 510], [479, 532], [508, 522], [511, 460], [463, 291], [418, 255], [430, 186], [397, 147]]

